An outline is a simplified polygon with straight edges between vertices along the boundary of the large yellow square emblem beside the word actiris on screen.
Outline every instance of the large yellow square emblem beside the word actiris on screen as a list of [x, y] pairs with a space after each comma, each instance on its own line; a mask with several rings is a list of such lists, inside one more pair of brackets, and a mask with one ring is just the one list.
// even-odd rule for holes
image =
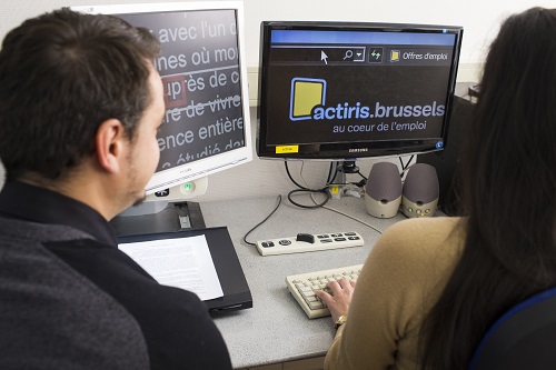
[[291, 79], [289, 119], [292, 121], [310, 120], [312, 108], [325, 106], [326, 81], [321, 79]]

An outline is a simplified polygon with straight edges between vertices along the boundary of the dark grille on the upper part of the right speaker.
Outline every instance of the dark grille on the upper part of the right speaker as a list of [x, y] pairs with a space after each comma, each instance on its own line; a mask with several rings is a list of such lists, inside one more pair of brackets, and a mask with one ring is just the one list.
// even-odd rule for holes
[[409, 168], [404, 182], [404, 197], [411, 202], [430, 203], [438, 198], [439, 186], [436, 169], [426, 163]]

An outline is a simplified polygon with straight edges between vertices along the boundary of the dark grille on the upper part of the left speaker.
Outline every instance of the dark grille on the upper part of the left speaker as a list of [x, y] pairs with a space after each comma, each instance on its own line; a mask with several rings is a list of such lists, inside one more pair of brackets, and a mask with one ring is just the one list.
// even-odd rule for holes
[[390, 162], [378, 162], [370, 169], [367, 194], [375, 200], [393, 201], [401, 196], [401, 179], [398, 167]]

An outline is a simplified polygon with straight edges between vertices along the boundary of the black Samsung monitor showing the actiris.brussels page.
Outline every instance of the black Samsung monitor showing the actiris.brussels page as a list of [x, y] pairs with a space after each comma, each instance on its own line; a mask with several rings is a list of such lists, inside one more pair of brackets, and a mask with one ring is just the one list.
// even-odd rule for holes
[[441, 150], [461, 36], [448, 26], [262, 22], [258, 156]]

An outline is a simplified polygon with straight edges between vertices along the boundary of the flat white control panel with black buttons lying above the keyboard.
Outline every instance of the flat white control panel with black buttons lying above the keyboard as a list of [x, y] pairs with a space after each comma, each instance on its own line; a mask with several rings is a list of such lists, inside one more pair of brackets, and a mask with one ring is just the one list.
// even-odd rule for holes
[[298, 233], [296, 237], [257, 241], [262, 256], [312, 252], [318, 250], [363, 247], [363, 237], [355, 231], [331, 233]]

